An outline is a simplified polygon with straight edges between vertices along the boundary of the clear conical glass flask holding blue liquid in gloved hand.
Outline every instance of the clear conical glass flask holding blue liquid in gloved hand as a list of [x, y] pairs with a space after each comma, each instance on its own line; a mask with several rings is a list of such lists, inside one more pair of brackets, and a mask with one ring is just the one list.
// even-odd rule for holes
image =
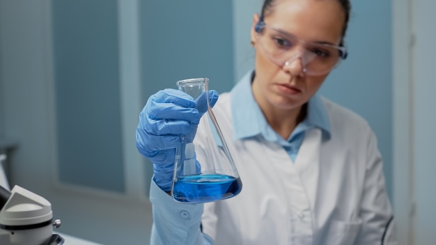
[[[242, 182], [208, 98], [208, 78], [177, 82], [180, 90], [191, 95], [198, 106], [206, 106], [197, 133], [182, 136], [176, 149], [171, 196], [179, 203], [206, 203], [232, 198], [242, 189]], [[205, 108], [200, 109], [205, 111]]]

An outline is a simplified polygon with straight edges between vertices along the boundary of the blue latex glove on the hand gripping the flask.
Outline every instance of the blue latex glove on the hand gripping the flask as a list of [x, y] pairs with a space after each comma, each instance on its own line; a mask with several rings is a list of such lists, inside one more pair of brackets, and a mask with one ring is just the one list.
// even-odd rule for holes
[[[166, 88], [151, 95], [139, 113], [137, 148], [153, 163], [154, 180], [164, 191], [171, 189], [180, 136], [185, 135], [185, 141], [192, 142], [198, 122], [208, 109], [201, 96], [194, 100], [180, 90]], [[217, 91], [208, 90], [208, 98], [210, 106], [214, 106]]]

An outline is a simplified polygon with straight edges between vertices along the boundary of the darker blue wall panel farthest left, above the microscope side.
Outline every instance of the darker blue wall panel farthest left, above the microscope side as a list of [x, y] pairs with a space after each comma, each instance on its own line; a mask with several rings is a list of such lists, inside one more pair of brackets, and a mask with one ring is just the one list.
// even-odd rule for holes
[[61, 182], [124, 191], [116, 0], [52, 1]]

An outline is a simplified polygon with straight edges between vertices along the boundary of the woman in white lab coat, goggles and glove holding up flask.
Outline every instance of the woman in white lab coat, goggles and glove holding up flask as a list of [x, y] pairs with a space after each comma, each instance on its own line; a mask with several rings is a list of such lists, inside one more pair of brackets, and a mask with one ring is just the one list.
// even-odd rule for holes
[[209, 91], [244, 184], [235, 198], [186, 205], [167, 194], [179, 135], [204, 111], [179, 90], [150, 97], [137, 148], [155, 173], [151, 244], [396, 244], [373, 131], [316, 95], [347, 56], [349, 15], [348, 0], [265, 0], [254, 15], [254, 70], [219, 100]]

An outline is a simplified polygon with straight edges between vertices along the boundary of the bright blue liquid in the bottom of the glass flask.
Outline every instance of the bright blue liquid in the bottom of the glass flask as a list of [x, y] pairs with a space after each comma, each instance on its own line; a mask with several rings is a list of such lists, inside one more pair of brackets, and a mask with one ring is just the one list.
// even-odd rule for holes
[[174, 182], [173, 198], [181, 203], [206, 203], [236, 196], [240, 178], [228, 175], [188, 175]]

